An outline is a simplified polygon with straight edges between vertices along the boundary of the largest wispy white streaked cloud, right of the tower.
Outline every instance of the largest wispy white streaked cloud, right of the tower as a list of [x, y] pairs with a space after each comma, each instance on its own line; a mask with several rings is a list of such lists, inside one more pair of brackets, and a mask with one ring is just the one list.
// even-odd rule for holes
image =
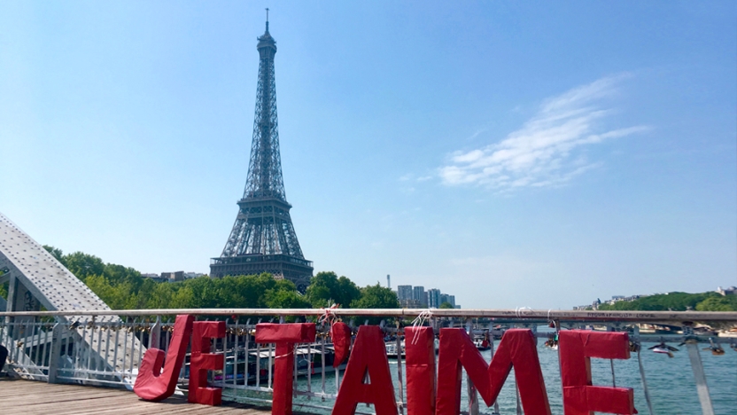
[[601, 162], [587, 161], [583, 149], [648, 129], [602, 127], [615, 109], [601, 103], [628, 75], [602, 78], [546, 99], [537, 114], [499, 143], [451, 154], [439, 168], [444, 184], [481, 184], [500, 191], [548, 187], [569, 182]]

